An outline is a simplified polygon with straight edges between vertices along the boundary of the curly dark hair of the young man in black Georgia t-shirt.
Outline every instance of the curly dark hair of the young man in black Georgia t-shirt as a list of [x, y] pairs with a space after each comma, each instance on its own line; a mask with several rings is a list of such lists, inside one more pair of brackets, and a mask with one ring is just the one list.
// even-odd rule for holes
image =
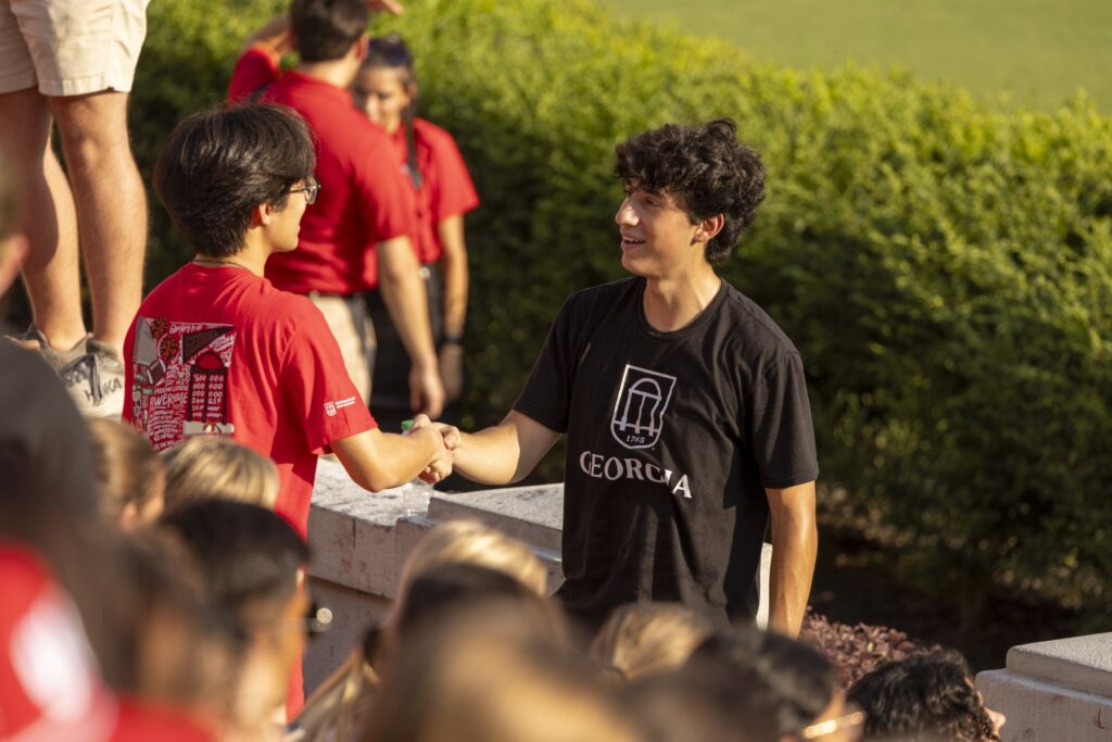
[[668, 123], [626, 139], [614, 151], [614, 175], [671, 194], [692, 224], [725, 217], [722, 231], [706, 245], [711, 264], [729, 257], [765, 197], [761, 156], [737, 141], [737, 125], [729, 119], [696, 127]]

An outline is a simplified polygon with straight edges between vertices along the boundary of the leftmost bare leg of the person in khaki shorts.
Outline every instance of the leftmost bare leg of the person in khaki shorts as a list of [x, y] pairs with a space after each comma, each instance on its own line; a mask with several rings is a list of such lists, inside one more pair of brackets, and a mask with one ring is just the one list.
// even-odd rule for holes
[[0, 141], [21, 172], [23, 233], [30, 251], [23, 283], [34, 324], [57, 350], [85, 338], [77, 221], [66, 175], [50, 149], [50, 108], [34, 88], [0, 95]]

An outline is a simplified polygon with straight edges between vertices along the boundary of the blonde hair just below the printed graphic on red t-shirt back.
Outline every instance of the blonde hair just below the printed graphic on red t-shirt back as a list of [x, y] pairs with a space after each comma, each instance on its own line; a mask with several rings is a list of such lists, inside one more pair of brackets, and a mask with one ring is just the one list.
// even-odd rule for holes
[[231, 438], [199, 435], [162, 453], [167, 508], [198, 499], [235, 499], [274, 509], [274, 462]]

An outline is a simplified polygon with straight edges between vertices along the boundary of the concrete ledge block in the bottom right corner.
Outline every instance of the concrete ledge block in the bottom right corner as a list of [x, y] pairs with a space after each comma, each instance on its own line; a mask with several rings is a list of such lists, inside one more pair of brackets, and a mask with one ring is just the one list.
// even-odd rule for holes
[[1012, 647], [1006, 669], [980, 673], [985, 703], [1007, 716], [1001, 740], [1112, 740], [1112, 634]]

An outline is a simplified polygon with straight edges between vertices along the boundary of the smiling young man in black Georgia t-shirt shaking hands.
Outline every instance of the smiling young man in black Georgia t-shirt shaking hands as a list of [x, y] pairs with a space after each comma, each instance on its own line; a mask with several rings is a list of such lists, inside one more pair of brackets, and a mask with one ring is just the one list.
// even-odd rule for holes
[[460, 434], [455, 469], [516, 482], [567, 434], [559, 595], [590, 623], [637, 600], [751, 619], [771, 514], [768, 625], [795, 635], [817, 544], [803, 364], [712, 267], [753, 221], [764, 168], [728, 120], [665, 126], [616, 154], [633, 277], [565, 303], [513, 412]]

